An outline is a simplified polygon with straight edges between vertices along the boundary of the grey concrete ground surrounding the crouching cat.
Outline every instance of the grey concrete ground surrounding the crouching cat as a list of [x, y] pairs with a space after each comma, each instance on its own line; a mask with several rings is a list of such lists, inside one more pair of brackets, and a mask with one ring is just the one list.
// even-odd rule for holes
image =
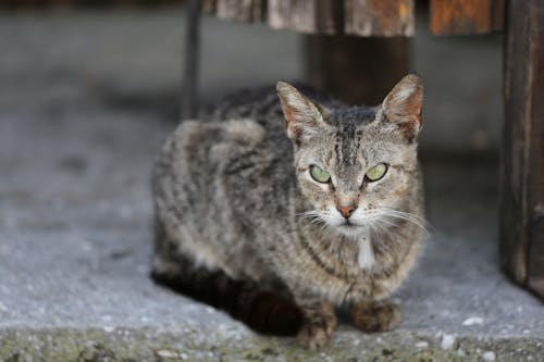
[[[404, 311], [396, 332], [364, 335], [344, 322], [327, 349], [310, 353], [156, 287], [147, 276], [149, 172], [175, 127], [178, 75], [169, 70], [177, 66], [180, 16], [0, 16], [0, 361], [544, 361], [543, 304], [498, 269], [496, 158], [466, 152], [466, 140], [433, 147], [445, 138], [431, 125], [422, 159], [432, 227], [395, 297]], [[251, 77], [236, 85], [300, 74], [295, 35], [255, 28], [256, 43], [245, 27], [206, 25], [215, 49], [227, 52], [225, 39], [238, 40], [228, 43], [233, 54], [264, 49], [237, 63]], [[496, 61], [494, 42], [480, 48], [484, 64]], [[292, 55], [265, 63], [274, 47]], [[233, 74], [245, 79], [223, 55], [205, 62], [213, 67], [205, 97], [234, 88]], [[480, 82], [493, 89], [498, 80]], [[430, 114], [472, 114], [462, 113], [475, 109], [470, 99], [465, 108], [441, 103], [467, 97], [462, 82], [438, 88]]]

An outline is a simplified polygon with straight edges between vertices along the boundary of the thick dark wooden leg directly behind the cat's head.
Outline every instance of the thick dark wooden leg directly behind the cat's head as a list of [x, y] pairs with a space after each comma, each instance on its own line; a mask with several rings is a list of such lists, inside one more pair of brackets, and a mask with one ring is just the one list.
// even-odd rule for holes
[[409, 39], [306, 37], [307, 82], [351, 104], [380, 103], [408, 73]]

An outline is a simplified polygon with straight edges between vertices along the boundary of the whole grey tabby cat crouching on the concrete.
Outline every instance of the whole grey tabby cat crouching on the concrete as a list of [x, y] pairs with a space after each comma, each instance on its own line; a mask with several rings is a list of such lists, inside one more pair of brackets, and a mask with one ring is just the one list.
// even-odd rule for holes
[[280, 102], [243, 93], [183, 122], [153, 175], [153, 279], [311, 349], [333, 305], [367, 332], [397, 326], [387, 297], [423, 238], [422, 91], [408, 75], [381, 105], [346, 107], [280, 82]]

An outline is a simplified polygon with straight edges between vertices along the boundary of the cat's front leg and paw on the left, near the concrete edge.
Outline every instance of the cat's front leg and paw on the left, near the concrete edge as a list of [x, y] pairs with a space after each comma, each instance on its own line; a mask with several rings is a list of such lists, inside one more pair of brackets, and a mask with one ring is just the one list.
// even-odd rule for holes
[[304, 319], [297, 335], [298, 344], [311, 350], [325, 347], [337, 325], [334, 307], [311, 296], [297, 296], [295, 299]]

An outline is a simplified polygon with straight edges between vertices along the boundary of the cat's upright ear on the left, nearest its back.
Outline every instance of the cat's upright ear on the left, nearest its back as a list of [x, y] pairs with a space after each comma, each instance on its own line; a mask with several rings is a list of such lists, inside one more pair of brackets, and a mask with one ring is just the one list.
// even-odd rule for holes
[[326, 108], [313, 103], [285, 82], [279, 82], [276, 90], [282, 103], [287, 136], [296, 145], [327, 128], [324, 121], [329, 113]]

